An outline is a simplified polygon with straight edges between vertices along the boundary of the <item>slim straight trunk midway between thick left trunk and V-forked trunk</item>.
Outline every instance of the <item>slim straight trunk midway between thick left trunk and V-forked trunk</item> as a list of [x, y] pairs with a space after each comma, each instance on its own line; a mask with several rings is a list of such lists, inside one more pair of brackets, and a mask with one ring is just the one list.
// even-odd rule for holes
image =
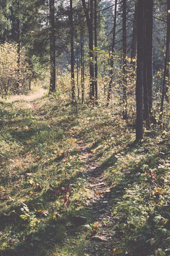
[[74, 81], [74, 32], [73, 32], [73, 2], [70, 0], [70, 35], [71, 35], [71, 104], [75, 104], [75, 81]]

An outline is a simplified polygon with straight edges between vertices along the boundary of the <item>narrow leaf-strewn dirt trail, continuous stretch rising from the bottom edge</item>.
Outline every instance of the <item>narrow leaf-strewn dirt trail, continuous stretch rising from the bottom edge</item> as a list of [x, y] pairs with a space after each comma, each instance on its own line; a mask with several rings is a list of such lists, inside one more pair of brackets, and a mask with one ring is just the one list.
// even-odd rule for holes
[[[94, 153], [88, 149], [82, 140], [77, 138], [78, 148], [86, 167], [88, 189], [94, 192], [93, 196], [84, 203], [86, 209], [97, 222], [96, 230], [91, 233], [91, 247], [87, 252], [90, 255], [112, 255], [111, 243], [113, 243], [113, 219], [111, 210], [111, 190], [106, 184], [103, 175], [104, 166], [99, 166], [94, 159]], [[115, 239], [114, 239], [115, 240]], [[104, 254], [105, 250], [105, 254]], [[94, 252], [92, 254], [92, 252]]]

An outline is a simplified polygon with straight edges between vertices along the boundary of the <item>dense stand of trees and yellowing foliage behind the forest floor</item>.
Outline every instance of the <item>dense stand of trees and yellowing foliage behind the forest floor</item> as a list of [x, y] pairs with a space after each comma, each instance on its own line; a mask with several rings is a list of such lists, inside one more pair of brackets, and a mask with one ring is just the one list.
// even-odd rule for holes
[[141, 139], [141, 120], [150, 129], [169, 101], [168, 11], [164, 1], [2, 1], [1, 95], [48, 78], [49, 93], [68, 90], [72, 104], [116, 98], [124, 119], [136, 113]]

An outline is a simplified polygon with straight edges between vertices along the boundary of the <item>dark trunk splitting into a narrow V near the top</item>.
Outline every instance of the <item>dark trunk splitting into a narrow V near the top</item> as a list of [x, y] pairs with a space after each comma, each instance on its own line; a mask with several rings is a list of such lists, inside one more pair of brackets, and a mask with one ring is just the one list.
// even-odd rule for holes
[[85, 4], [85, 0], [82, 0], [82, 6], [84, 8], [85, 17], [88, 26], [89, 37], [89, 57], [90, 57], [90, 101], [94, 102], [94, 54], [93, 54], [93, 0], [89, 0], [90, 14]]

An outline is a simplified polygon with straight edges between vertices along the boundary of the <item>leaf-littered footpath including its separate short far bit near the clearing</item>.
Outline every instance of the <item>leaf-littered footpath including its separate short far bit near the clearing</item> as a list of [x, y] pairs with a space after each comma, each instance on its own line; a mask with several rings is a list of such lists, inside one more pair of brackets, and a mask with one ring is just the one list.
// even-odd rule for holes
[[[40, 104], [35, 101], [31, 102], [31, 105], [37, 115], [40, 116], [40, 119], [43, 119], [45, 113], [41, 109]], [[90, 233], [87, 224], [86, 236], [90, 241], [90, 246], [85, 249], [84, 255], [110, 256], [112, 255], [114, 221], [110, 202], [111, 189], [103, 175], [106, 166], [101, 166], [99, 160], [96, 159], [94, 151], [88, 147], [88, 144], [80, 134], [75, 133], [74, 128], [70, 128], [67, 132], [71, 135], [72, 139], [76, 139], [76, 148], [79, 151], [79, 157], [83, 166], [85, 166], [87, 181], [85, 191], [89, 192], [89, 197], [83, 202], [82, 207], [88, 212], [90, 223], [91, 219], [94, 220], [94, 228], [92, 228]]]

